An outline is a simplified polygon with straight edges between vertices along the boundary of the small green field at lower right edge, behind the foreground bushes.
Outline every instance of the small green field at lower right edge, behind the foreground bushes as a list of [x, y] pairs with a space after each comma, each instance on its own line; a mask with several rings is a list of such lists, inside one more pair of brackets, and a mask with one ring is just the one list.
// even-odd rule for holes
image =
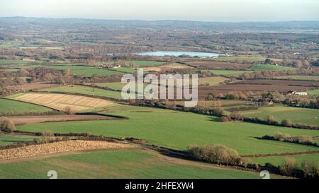
[[274, 156], [274, 157], [265, 157], [265, 158], [247, 158], [245, 160], [250, 163], [259, 163], [264, 165], [265, 163], [272, 163], [273, 165], [281, 165], [284, 163], [285, 158], [294, 158], [296, 163], [300, 164], [303, 160], [313, 161], [319, 163], [319, 154], [309, 154], [309, 155], [300, 155], [300, 156]]

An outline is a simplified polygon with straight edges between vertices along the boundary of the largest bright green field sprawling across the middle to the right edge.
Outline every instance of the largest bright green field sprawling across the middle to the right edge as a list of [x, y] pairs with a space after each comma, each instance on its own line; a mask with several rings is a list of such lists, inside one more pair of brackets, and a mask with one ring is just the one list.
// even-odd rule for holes
[[224, 144], [235, 148], [241, 154], [319, 150], [319, 148], [312, 146], [257, 139], [257, 137], [264, 135], [274, 135], [276, 131], [295, 136], [319, 136], [319, 131], [243, 122], [223, 123], [216, 122], [216, 118], [210, 116], [126, 105], [110, 107], [106, 113], [123, 115], [129, 119], [114, 122], [44, 123], [18, 126], [18, 129], [23, 131], [51, 130], [63, 133], [90, 132], [91, 134], [115, 137], [131, 136], [145, 139], [150, 144], [178, 149], [186, 149], [191, 144]]

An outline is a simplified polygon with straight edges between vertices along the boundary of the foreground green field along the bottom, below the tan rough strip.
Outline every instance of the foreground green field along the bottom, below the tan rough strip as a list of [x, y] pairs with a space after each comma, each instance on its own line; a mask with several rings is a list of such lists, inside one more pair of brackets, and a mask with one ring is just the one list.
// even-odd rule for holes
[[259, 173], [179, 163], [145, 150], [91, 151], [41, 160], [4, 163], [0, 178], [259, 178]]

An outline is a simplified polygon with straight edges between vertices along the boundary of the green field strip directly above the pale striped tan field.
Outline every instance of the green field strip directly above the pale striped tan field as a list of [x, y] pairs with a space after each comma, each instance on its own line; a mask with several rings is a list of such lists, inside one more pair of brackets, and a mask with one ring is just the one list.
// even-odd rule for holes
[[108, 98], [116, 98], [121, 99], [121, 93], [111, 91], [111, 90], [103, 90], [99, 88], [92, 88], [89, 86], [57, 86], [53, 88], [45, 88], [43, 91], [51, 91], [51, 92], [66, 92], [66, 93], [80, 93], [85, 95], [94, 95], [94, 96], [102, 96]]

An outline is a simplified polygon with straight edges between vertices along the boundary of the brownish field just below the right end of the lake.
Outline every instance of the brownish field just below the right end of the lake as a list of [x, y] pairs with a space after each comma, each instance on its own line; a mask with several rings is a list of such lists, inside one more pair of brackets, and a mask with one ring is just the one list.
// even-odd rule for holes
[[252, 65], [250, 64], [240, 64], [240, 63], [230, 63], [230, 62], [188, 62], [187, 64], [194, 67], [201, 67], [205, 69], [228, 69], [228, 70], [248, 70]]

